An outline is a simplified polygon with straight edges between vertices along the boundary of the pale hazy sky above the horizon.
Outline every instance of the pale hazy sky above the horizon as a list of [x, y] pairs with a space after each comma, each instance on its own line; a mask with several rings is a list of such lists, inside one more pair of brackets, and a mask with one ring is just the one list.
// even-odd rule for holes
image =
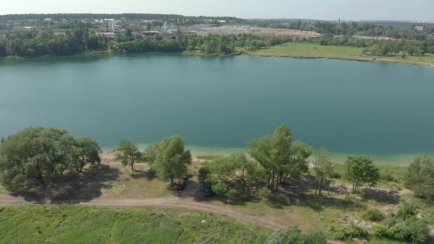
[[434, 0], [0, 0], [0, 14], [151, 13], [243, 19], [434, 21]]

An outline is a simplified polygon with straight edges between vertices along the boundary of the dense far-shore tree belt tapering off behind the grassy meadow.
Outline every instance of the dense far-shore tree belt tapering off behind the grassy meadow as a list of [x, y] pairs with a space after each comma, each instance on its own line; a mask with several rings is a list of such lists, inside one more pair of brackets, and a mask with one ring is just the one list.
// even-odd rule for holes
[[68, 56], [88, 51], [112, 53], [144, 53], [197, 51], [201, 54], [230, 55], [236, 47], [261, 49], [266, 46], [291, 41], [285, 36], [253, 35], [183, 35], [180, 31], [170, 38], [163, 36], [141, 37], [127, 29], [124, 34], [108, 38], [90, 29], [72, 29], [64, 34], [52, 31], [22, 31], [0, 36], [0, 58], [6, 56], [40, 57]]

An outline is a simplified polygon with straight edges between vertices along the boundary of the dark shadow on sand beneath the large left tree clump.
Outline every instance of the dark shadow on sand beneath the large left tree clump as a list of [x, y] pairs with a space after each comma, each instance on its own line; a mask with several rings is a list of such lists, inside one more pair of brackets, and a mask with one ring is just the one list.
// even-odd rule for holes
[[72, 204], [89, 202], [99, 198], [103, 189], [111, 188], [111, 181], [116, 181], [119, 171], [108, 165], [91, 166], [81, 174], [69, 173], [45, 185], [33, 185], [14, 196], [34, 203]]

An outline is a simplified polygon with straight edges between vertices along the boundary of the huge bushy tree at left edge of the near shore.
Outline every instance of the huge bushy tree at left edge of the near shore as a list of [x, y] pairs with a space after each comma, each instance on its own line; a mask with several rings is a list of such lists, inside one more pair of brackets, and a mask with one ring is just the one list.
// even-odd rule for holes
[[63, 176], [69, 168], [74, 138], [58, 128], [31, 127], [0, 144], [2, 184], [19, 190]]

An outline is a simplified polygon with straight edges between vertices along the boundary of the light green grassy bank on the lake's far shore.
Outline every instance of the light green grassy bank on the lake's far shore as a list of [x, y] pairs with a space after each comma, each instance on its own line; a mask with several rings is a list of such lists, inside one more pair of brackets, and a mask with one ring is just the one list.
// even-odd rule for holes
[[257, 51], [248, 51], [246, 49], [238, 49], [238, 51], [251, 56], [278, 56], [303, 59], [343, 59], [353, 61], [375, 60], [378, 62], [410, 63], [434, 66], [434, 55], [407, 56], [405, 58], [400, 56], [372, 56], [362, 54], [363, 48], [355, 46], [321, 46], [320, 44], [311, 43], [287, 43]]

